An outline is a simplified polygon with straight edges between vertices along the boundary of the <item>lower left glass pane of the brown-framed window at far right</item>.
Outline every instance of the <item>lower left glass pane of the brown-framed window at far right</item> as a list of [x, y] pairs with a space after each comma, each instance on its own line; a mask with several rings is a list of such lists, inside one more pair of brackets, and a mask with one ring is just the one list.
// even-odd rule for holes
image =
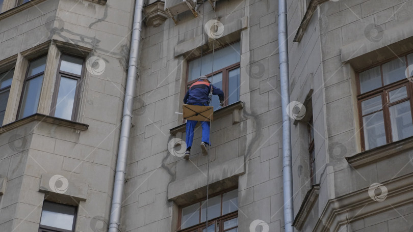
[[386, 144], [383, 111], [363, 117], [366, 150]]

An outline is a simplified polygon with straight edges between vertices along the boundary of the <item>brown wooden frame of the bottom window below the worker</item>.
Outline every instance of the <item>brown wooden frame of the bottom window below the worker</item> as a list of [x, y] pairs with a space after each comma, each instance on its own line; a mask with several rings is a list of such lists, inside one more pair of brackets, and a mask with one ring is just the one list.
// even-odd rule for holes
[[[234, 218], [238, 218], [238, 210], [237, 211], [234, 211], [234, 212], [231, 212], [231, 213], [228, 213], [228, 214], [225, 214], [225, 215], [222, 215], [222, 207], [223, 207], [223, 195], [225, 194], [225, 193], [228, 193], [228, 192], [230, 192], [230, 191], [233, 191], [233, 190], [236, 190], [236, 189], [238, 189], [238, 188], [231, 188], [231, 189], [229, 189], [229, 190], [225, 190], [225, 191], [221, 191], [221, 192], [218, 192], [218, 193], [216, 193], [216, 194], [213, 194], [213, 195], [211, 195], [209, 198], [212, 198], [212, 197], [215, 197], [215, 196], [221, 196], [221, 216], [219, 216], [219, 217], [216, 217], [216, 218], [213, 218], [213, 219], [210, 219], [210, 220], [208, 220], [208, 226], [211, 226], [211, 225], [213, 225], [214, 223], [215, 223], [215, 225], [217, 225], [218, 226], [218, 229], [219, 230], [216, 230], [216, 231], [223, 231], [223, 232], [225, 232], [225, 231], [229, 231], [229, 230], [231, 230], [231, 229], [234, 229], [234, 228], [238, 228], [238, 226], [239, 226], [239, 222], [238, 222], [238, 225], [237, 226], [234, 226], [234, 227], [231, 227], [231, 228], [227, 228], [227, 229], [225, 229], [224, 230], [224, 222], [225, 221], [228, 221], [228, 220], [231, 220], [231, 219], [234, 219]], [[177, 232], [202, 232], [202, 229], [205, 229], [205, 221], [203, 221], [203, 222], [200, 222], [200, 223], [198, 223], [198, 224], [195, 224], [195, 225], [192, 225], [192, 226], [190, 226], [190, 227], [187, 227], [187, 228], [184, 228], [184, 229], [180, 229], [180, 226], [182, 225], [182, 209], [184, 209], [185, 207], [188, 207], [188, 206], [191, 206], [191, 205], [194, 205], [194, 204], [196, 204], [196, 203], [198, 203], [199, 204], [199, 221], [201, 221], [201, 209], [202, 209], [202, 201], [204, 201], [204, 200], [206, 200], [207, 199], [207, 197], [204, 197], [204, 198], [201, 198], [200, 200], [198, 200], [199, 202], [192, 202], [191, 204], [187, 204], [187, 205], [184, 205], [184, 206], [182, 206], [182, 207], [179, 207], [179, 216], [178, 216], [178, 225], [177, 225]], [[206, 204], [206, 203], [205, 203]], [[237, 202], [237, 206], [238, 206], [238, 202]], [[215, 227], [216, 228], [216, 227]], [[207, 231], [206, 229], [205, 229], [205, 231]]]

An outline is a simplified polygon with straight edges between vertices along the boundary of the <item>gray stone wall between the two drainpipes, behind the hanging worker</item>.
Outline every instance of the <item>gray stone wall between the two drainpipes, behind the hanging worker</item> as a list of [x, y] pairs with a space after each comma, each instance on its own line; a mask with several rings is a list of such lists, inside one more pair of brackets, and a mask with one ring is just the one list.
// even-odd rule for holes
[[[172, 156], [167, 150], [168, 142], [175, 137], [169, 130], [183, 123], [175, 112], [182, 111], [186, 81], [187, 57], [175, 56], [174, 48], [184, 41], [199, 38], [203, 34], [203, 23], [210, 19], [218, 17], [225, 30], [230, 30], [231, 23], [244, 16], [248, 17], [247, 27], [237, 31], [235, 36], [241, 40], [240, 100], [244, 102], [241, 122], [233, 125], [231, 114], [227, 114], [212, 123], [210, 169], [214, 172], [210, 175], [213, 182], [236, 177], [239, 231], [249, 231], [250, 223], [256, 219], [268, 223], [270, 231], [282, 230], [276, 7], [275, 1], [267, 0], [218, 1], [214, 13], [211, 6], [204, 3], [198, 8], [200, 13], [196, 18], [186, 12], [178, 15], [177, 25], [167, 19], [159, 27], [143, 28], [135, 127], [123, 197], [124, 231], [175, 231], [178, 204], [168, 200], [168, 196], [183, 194], [195, 200], [197, 197], [191, 186], [206, 184], [206, 176], [202, 173], [207, 171], [207, 158], [198, 147], [200, 128], [195, 133], [189, 161]], [[226, 33], [224, 31], [224, 36]], [[191, 51], [199, 45], [195, 43], [186, 49]], [[185, 133], [178, 133], [176, 137], [185, 140]], [[244, 169], [245, 174], [238, 177], [239, 170], [228, 170], [232, 170], [231, 164], [240, 158], [244, 164], [236, 169]], [[172, 189], [179, 189], [179, 193], [171, 192]]]

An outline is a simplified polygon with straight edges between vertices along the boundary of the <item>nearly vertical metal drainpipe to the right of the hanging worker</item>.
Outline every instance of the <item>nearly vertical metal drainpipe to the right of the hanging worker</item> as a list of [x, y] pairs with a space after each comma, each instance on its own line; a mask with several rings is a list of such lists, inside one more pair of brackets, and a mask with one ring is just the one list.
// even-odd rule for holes
[[278, 52], [282, 106], [282, 178], [284, 194], [284, 223], [286, 232], [294, 232], [293, 168], [291, 159], [290, 80], [288, 70], [287, 1], [278, 0]]

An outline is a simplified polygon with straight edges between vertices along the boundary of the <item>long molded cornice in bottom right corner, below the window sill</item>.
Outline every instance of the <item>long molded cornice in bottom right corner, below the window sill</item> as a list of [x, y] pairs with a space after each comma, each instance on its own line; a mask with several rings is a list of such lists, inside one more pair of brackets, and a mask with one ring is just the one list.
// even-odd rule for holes
[[413, 173], [382, 182], [381, 185], [388, 190], [386, 198], [381, 201], [372, 199], [369, 188], [329, 200], [312, 231], [339, 231], [343, 224], [413, 202]]

